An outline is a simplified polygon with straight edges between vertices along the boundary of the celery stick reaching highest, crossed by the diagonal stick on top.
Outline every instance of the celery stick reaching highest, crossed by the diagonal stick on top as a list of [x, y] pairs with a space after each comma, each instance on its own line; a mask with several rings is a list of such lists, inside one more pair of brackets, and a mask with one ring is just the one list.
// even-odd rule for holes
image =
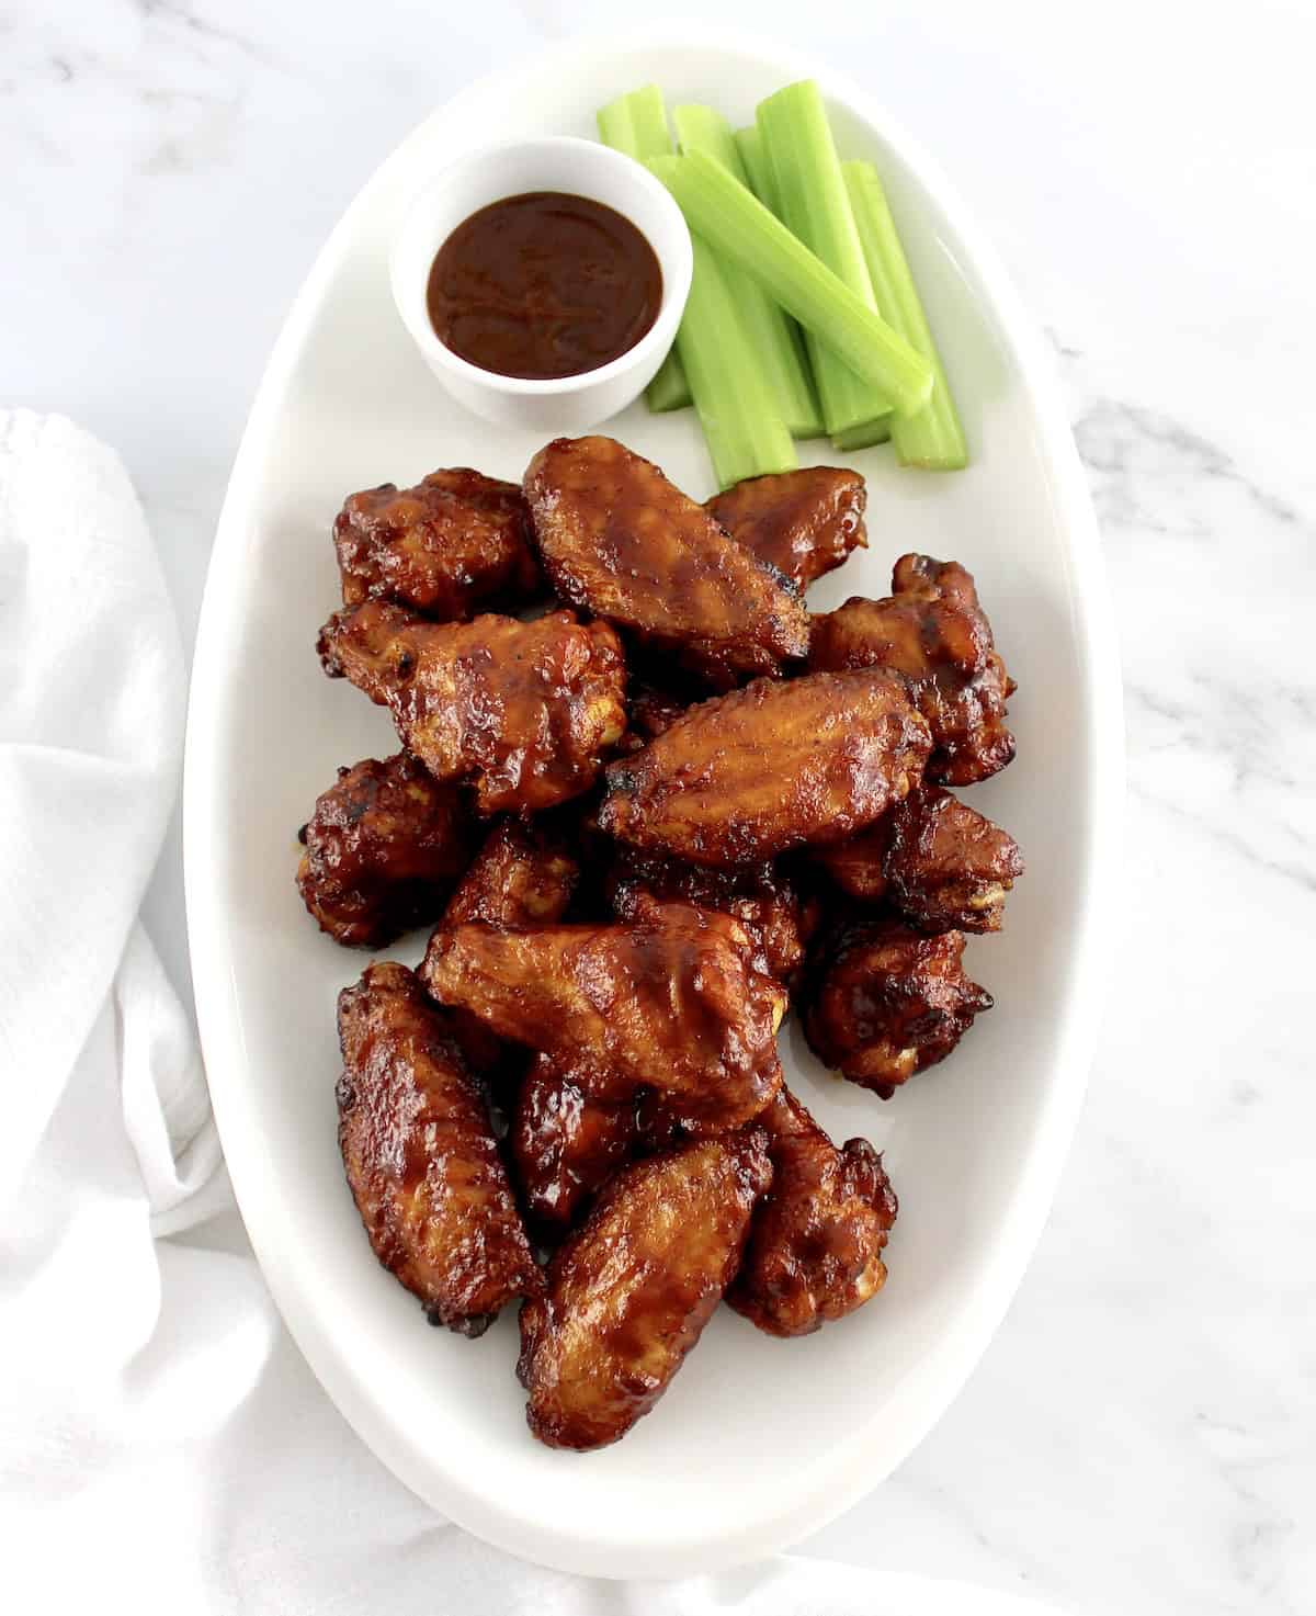
[[[772, 165], [782, 223], [880, 314], [817, 84], [804, 79], [769, 95], [759, 102], [756, 121]], [[856, 377], [817, 335], [809, 341], [809, 352], [822, 414], [833, 436], [890, 414], [891, 399], [885, 389]]]

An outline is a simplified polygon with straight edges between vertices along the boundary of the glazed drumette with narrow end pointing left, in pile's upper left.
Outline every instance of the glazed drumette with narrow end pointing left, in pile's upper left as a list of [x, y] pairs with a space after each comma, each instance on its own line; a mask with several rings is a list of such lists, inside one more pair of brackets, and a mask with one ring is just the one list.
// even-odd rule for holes
[[486, 814], [586, 792], [627, 724], [617, 635], [567, 611], [434, 624], [371, 600], [328, 621], [320, 659], [391, 708], [436, 781], [471, 779]]

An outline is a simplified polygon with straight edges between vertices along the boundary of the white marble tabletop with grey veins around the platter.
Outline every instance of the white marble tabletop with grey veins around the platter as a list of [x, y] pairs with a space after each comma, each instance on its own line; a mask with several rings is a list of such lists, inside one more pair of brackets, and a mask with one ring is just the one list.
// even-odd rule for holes
[[[446, 10], [0, 5], [0, 401], [123, 451], [189, 635], [265, 352], [336, 215], [463, 81], [620, 21]], [[1316, 19], [701, 11], [843, 65], [990, 221], [1062, 372], [1127, 679], [1125, 926], [1054, 1215], [956, 1406], [804, 1553], [1075, 1611], [1310, 1611]], [[182, 981], [176, 837], [150, 923]]]

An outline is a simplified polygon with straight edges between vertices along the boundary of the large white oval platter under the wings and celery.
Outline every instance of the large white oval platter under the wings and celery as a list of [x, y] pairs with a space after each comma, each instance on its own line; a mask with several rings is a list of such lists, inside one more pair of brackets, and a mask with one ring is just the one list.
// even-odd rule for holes
[[[337, 764], [396, 740], [315, 658], [337, 598], [329, 524], [350, 490], [438, 465], [518, 478], [539, 446], [463, 415], [394, 310], [392, 221], [433, 171], [492, 139], [589, 136], [599, 105], [649, 81], [668, 105], [709, 102], [741, 123], [804, 76], [822, 82], [843, 155], [870, 158], [890, 187], [974, 456], [941, 477], [898, 470], [883, 449], [851, 456], [869, 477], [870, 549], [811, 604], [886, 593], [907, 549], [977, 575], [1019, 680], [1019, 756], [970, 800], [1017, 835], [1029, 873], [1004, 934], [966, 955], [996, 1008], [891, 1102], [824, 1073], [798, 1031], [786, 1041], [788, 1076], [833, 1134], [885, 1151], [901, 1199], [886, 1290], [798, 1341], [722, 1309], [631, 1435], [554, 1453], [526, 1432], [515, 1319], [475, 1343], [428, 1328], [375, 1262], [342, 1180], [334, 995], [365, 960], [307, 918], [294, 832]], [[689, 412], [641, 402], [606, 430], [712, 493]], [[360, 1437], [480, 1537], [614, 1577], [769, 1553], [888, 1475], [969, 1375], [1045, 1222], [1092, 1052], [1121, 800], [1096, 530], [1048, 360], [970, 213], [878, 107], [814, 63], [683, 31], [547, 52], [426, 120], [331, 234], [270, 357], [215, 541], [187, 735], [192, 971], [228, 1167], [284, 1319]]]

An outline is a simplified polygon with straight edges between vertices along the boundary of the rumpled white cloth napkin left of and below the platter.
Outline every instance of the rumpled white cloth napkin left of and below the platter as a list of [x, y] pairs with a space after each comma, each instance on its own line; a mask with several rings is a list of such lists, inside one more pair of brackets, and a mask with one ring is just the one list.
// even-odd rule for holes
[[182, 703], [118, 457], [60, 417], [0, 412], [5, 1608], [1037, 1616], [799, 1558], [677, 1584], [559, 1576], [446, 1526], [370, 1456], [265, 1291], [192, 1028], [137, 921]]

